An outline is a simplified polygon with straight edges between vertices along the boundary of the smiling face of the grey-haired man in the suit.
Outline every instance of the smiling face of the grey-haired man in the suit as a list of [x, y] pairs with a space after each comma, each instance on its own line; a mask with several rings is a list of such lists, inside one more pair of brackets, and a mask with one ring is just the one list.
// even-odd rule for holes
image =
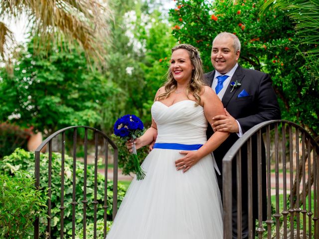
[[219, 37], [214, 40], [211, 50], [211, 63], [221, 74], [229, 72], [237, 63], [240, 51], [235, 52], [234, 40], [230, 37]]

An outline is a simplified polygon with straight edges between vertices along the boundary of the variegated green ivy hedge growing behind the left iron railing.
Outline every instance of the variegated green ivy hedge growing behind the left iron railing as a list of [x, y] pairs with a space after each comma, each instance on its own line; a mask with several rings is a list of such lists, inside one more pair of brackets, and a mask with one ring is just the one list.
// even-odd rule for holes
[[[0, 171], [5, 173], [13, 173], [17, 170], [26, 170], [31, 174], [34, 173], [34, 154], [26, 152], [23, 149], [16, 149], [11, 155], [5, 156], [0, 161]], [[73, 159], [65, 155], [64, 163], [64, 233], [66, 235], [72, 234], [72, 173]], [[61, 154], [52, 153], [52, 186], [51, 186], [51, 227], [52, 236], [58, 237], [60, 235], [60, 209], [61, 206]], [[83, 219], [83, 185], [84, 185], [84, 164], [76, 162], [76, 215], [75, 224], [76, 230], [82, 228]], [[40, 187], [48, 187], [48, 154], [41, 154], [40, 159]], [[87, 223], [93, 222], [94, 217], [94, 166], [88, 165], [87, 168]], [[112, 220], [113, 210], [113, 183], [108, 180], [107, 186], [107, 218]], [[104, 176], [98, 174], [97, 177], [97, 219], [103, 219], [103, 205], [104, 205]], [[118, 185], [118, 207], [120, 206], [125, 195], [125, 188], [123, 185]]]

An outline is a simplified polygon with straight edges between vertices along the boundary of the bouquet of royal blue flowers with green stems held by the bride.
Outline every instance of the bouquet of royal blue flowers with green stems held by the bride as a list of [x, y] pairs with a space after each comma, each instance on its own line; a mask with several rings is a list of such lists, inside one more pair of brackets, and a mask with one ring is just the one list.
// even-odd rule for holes
[[[134, 140], [142, 134], [143, 128], [144, 125], [140, 118], [135, 115], [126, 115], [116, 120], [114, 124], [114, 134], [119, 136], [124, 141], [128, 141], [129, 139]], [[134, 141], [133, 152], [131, 155], [136, 171], [137, 180], [142, 180], [145, 177], [145, 172], [140, 165]]]

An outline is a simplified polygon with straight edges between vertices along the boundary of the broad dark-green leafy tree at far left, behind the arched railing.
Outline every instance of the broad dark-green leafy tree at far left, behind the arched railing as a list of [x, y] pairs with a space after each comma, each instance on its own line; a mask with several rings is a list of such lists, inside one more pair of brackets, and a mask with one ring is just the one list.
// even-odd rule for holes
[[0, 71], [0, 121], [48, 133], [70, 125], [101, 125], [103, 102], [118, 90], [88, 69], [84, 53], [52, 49], [33, 54], [33, 41], [21, 51], [13, 76]]

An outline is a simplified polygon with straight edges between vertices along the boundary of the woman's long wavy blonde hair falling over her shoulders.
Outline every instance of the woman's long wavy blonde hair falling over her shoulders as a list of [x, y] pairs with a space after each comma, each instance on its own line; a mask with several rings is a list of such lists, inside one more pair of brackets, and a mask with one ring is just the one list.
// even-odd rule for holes
[[[191, 80], [186, 88], [186, 95], [188, 98], [189, 94], [192, 94], [195, 98], [196, 105], [200, 103], [200, 94], [203, 88], [203, 79], [204, 73], [202, 69], [202, 62], [199, 56], [198, 50], [189, 44], [180, 44], [171, 48], [171, 53], [173, 53], [177, 49], [185, 49], [188, 52], [191, 64], [194, 66], [194, 70], [191, 73]], [[177, 82], [175, 81], [173, 74], [171, 73], [170, 67], [167, 71], [167, 81], [164, 84], [165, 93], [160, 94], [156, 100], [160, 100], [162, 98], [166, 99], [170, 96], [173, 91], [177, 89]], [[189, 98], [188, 98], [189, 99]]]

